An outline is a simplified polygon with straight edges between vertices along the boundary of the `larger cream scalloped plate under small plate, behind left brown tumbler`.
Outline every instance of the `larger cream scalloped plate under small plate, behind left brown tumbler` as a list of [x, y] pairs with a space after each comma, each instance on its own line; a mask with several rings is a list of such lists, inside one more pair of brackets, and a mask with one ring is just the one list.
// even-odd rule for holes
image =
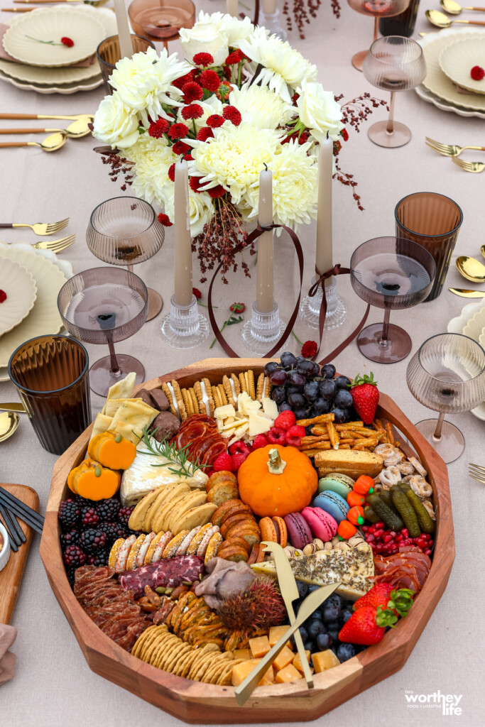
[[[44, 253], [49, 254], [44, 254]], [[29, 270], [36, 281], [37, 300], [31, 312], [15, 329], [0, 338], [0, 380], [7, 381], [7, 364], [15, 349], [29, 338], [56, 334], [63, 328], [57, 310], [57, 295], [73, 269], [65, 260], [56, 260], [50, 250], [33, 250], [30, 245], [0, 243], [0, 257], [15, 260]]]

